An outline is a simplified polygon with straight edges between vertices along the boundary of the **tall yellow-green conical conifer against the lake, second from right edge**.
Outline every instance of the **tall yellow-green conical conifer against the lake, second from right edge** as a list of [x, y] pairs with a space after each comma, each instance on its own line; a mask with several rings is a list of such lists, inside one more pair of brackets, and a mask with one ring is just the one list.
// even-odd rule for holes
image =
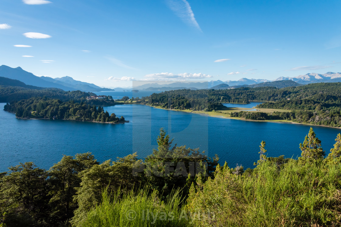
[[303, 144], [299, 144], [299, 148], [301, 149], [302, 153], [301, 157], [298, 159], [302, 164], [313, 162], [315, 160], [322, 160], [325, 154], [321, 147], [321, 140], [316, 137], [312, 127], [310, 127], [309, 133], [306, 136]]

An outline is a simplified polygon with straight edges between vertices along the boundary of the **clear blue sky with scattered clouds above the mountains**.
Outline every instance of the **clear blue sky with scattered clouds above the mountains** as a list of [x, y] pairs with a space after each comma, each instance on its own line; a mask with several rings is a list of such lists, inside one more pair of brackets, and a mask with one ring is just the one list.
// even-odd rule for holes
[[1, 0], [0, 65], [106, 87], [340, 72], [340, 10], [314, 0]]

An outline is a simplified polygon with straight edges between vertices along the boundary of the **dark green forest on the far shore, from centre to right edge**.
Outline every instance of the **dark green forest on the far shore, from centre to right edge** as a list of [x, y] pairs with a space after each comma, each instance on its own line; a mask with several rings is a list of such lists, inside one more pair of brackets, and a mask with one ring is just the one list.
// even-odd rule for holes
[[291, 120], [296, 122], [340, 127], [341, 83], [316, 83], [298, 87], [241, 87], [226, 90], [174, 90], [144, 97], [147, 105], [172, 109], [215, 111], [221, 103], [264, 101], [259, 108], [285, 109], [290, 112], [234, 112], [231, 117], [250, 120]]

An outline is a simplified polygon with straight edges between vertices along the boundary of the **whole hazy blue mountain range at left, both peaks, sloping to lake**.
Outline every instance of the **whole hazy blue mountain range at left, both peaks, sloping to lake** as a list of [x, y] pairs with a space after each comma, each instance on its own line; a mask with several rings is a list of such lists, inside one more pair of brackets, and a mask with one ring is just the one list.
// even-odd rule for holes
[[51, 78], [48, 76], [35, 76], [30, 72], [23, 70], [20, 67], [11, 68], [5, 65], [0, 66], [0, 76], [7, 77], [13, 80], [19, 80], [26, 85], [38, 87], [54, 87], [65, 91], [81, 90], [81, 91], [113, 91], [110, 88], [101, 88], [94, 84], [76, 81], [70, 76], [61, 78]]

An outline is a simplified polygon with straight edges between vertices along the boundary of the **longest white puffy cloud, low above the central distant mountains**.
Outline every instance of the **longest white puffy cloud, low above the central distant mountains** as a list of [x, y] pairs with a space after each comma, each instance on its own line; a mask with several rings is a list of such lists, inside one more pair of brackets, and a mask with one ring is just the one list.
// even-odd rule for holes
[[203, 73], [168, 73], [168, 72], [162, 72], [162, 73], [153, 73], [153, 74], [147, 74], [145, 75], [145, 78], [147, 80], [187, 80], [187, 79], [203, 79], [203, 78], [210, 78], [213, 77], [208, 74]]

